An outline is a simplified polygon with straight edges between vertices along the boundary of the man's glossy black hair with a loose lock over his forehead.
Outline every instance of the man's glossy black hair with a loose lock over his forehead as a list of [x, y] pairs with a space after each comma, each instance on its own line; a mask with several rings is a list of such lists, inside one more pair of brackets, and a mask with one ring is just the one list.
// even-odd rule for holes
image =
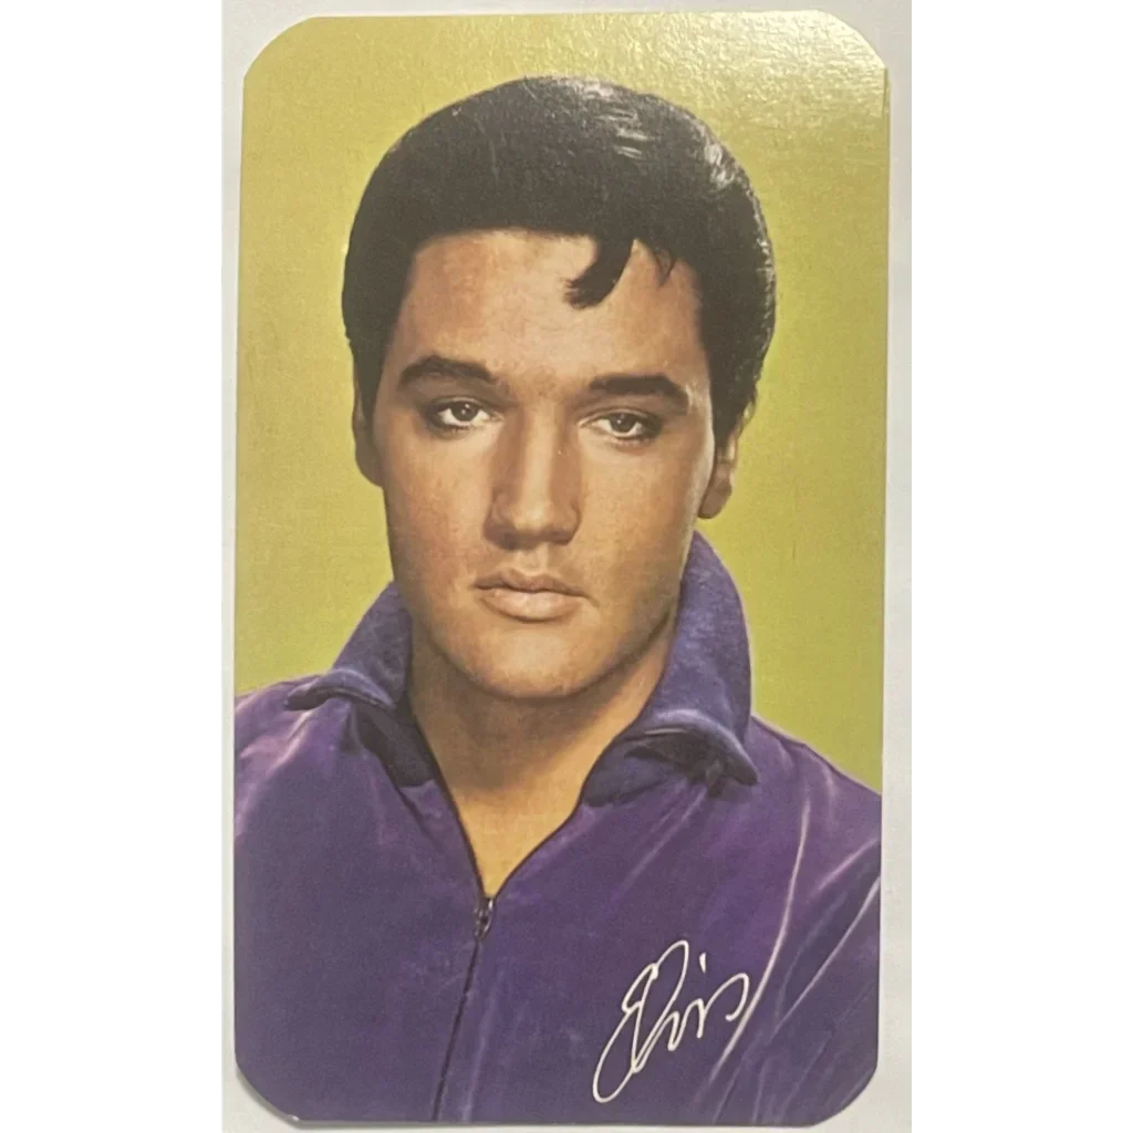
[[775, 324], [763, 212], [699, 119], [655, 95], [581, 78], [523, 78], [438, 110], [385, 154], [358, 206], [342, 315], [368, 418], [414, 254], [436, 236], [527, 229], [590, 236], [566, 290], [602, 303], [634, 240], [696, 273], [717, 443], [755, 404]]

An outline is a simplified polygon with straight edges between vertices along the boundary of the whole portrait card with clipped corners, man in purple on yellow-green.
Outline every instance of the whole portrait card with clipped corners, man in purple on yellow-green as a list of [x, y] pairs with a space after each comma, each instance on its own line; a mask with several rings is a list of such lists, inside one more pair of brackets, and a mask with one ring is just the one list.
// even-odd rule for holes
[[887, 60], [588, 10], [230, 63], [225, 1127], [898, 1127]]

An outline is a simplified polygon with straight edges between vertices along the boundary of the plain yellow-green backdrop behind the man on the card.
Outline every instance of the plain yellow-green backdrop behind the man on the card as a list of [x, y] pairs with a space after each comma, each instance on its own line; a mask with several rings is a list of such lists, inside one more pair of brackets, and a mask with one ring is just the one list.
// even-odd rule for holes
[[764, 204], [778, 327], [736, 492], [705, 534], [743, 595], [756, 710], [880, 784], [888, 99], [813, 14], [321, 18], [245, 80], [236, 685], [327, 667], [390, 578], [350, 444], [339, 295], [374, 165], [428, 112], [580, 74], [699, 114]]

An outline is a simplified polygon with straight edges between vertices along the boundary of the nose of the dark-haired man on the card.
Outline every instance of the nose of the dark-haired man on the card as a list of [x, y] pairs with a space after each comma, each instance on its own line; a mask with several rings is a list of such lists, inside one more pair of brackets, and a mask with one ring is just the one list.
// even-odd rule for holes
[[516, 421], [499, 441], [487, 536], [521, 551], [569, 543], [579, 523], [578, 453], [550, 419]]

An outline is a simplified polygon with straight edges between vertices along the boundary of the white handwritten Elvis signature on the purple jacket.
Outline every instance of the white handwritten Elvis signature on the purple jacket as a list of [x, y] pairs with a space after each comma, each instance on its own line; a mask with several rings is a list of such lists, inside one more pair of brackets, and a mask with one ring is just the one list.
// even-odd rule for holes
[[[657, 1022], [654, 1023], [653, 1029], [648, 1032], [648, 1034], [642, 1038], [641, 1020], [646, 1013], [646, 1003], [649, 998], [649, 993], [653, 989], [654, 983], [656, 983], [661, 978], [661, 970], [664, 966], [665, 961], [671, 956], [680, 957], [681, 971], [676, 979], [676, 986], [668, 996], [668, 1000], [662, 1010]], [[708, 957], [702, 952], [700, 953], [699, 963], [700, 971], [707, 973]], [[639, 1074], [642, 1070], [645, 1070], [646, 1063], [649, 1060], [649, 1056], [653, 1054], [657, 1043], [662, 1040], [666, 1030], [668, 1032], [668, 1038], [665, 1040], [665, 1047], [670, 1051], [675, 1050], [681, 1045], [681, 1040], [684, 1038], [685, 1029], [689, 1025], [689, 1016], [693, 1011], [697, 1013], [697, 1038], [702, 1039], [705, 1033], [705, 1021], [708, 1019], [708, 1012], [712, 1011], [716, 1000], [721, 996], [725, 995], [729, 989], [738, 991], [739, 998], [735, 1006], [724, 1016], [724, 1019], [726, 1022], [732, 1023], [740, 1017], [751, 994], [751, 980], [743, 972], [736, 972], [735, 976], [724, 980], [724, 982], [716, 988], [707, 1000], [697, 998], [693, 999], [683, 1011], [674, 1008], [674, 1004], [684, 988], [684, 977], [688, 974], [688, 971], [689, 942], [678, 940], [675, 944], [671, 944], [651, 964], [646, 964], [645, 968], [641, 969], [641, 973], [630, 985], [629, 991], [627, 991], [622, 998], [621, 1021], [617, 1026], [614, 1028], [614, 1033], [610, 1036], [610, 1041], [602, 1051], [602, 1057], [598, 1059], [598, 1065], [594, 1071], [591, 1091], [594, 1093], [595, 1101], [602, 1105], [607, 1101], [613, 1101], [614, 1098], [616, 1098], [617, 1094], [620, 1094], [622, 1090], [629, 1085], [630, 1079], [632, 1079], [634, 1074]], [[740, 1025], [743, 1025], [742, 1021]], [[627, 1045], [629, 1046], [628, 1050], [625, 1049]], [[613, 1088], [613, 1090], [608, 1093], [603, 1093], [602, 1079], [603, 1071], [606, 1068], [607, 1059], [612, 1060], [611, 1068], [615, 1073], [620, 1068], [616, 1055], [619, 1047], [621, 1048], [621, 1065], [625, 1066], [625, 1071], [622, 1073], [621, 1079], [617, 1081], [617, 1084]], [[628, 1064], [625, 1062], [627, 1057]], [[610, 1075], [607, 1075], [607, 1077], [608, 1076]]]

